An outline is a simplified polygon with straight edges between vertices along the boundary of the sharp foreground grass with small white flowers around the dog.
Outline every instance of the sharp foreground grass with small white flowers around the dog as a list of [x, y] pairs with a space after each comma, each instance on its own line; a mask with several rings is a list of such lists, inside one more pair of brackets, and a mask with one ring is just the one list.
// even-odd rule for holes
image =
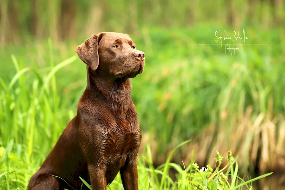
[[[193, 149], [191, 164], [187, 168], [185, 167], [183, 161], [182, 163], [184, 165], [184, 168], [178, 164], [171, 163], [170, 159], [174, 154], [174, 151], [187, 142], [190, 142], [190, 140], [182, 142], [176, 146], [168, 156], [166, 163], [158, 166], [157, 168], [154, 168], [152, 165], [152, 160], [146, 157], [143, 159], [139, 158], [139, 189], [253, 189], [252, 182], [272, 174], [267, 173], [254, 179], [245, 180], [244, 178], [238, 176], [238, 164], [236, 159], [231, 157], [229, 154], [227, 159], [224, 160], [218, 152], [216, 160], [219, 162], [219, 164], [215, 170], [211, 168], [210, 164], [206, 166], [207, 169], [204, 169], [205, 167], [201, 167], [199, 170], [199, 166], [196, 163], [194, 164]], [[3, 152], [1, 154], [0, 166], [4, 166], [0, 169], [1, 189], [26, 189], [28, 180], [32, 175], [32, 173], [29, 172], [32, 171], [31, 167], [29, 167], [30, 164], [23, 164], [23, 162], [25, 162], [25, 158], [21, 158], [21, 154], [23, 154], [25, 151], [18, 152], [17, 155], [11, 152], [13, 148], [15, 150], [15, 147], [16, 146], [14, 146], [14, 140], [12, 139], [5, 149], [3, 147], [0, 149]], [[147, 154], [147, 152], [145, 152], [145, 154]], [[148, 156], [151, 157], [151, 155]], [[221, 169], [220, 166], [221, 162], [223, 161], [227, 161], [227, 165]], [[149, 167], [146, 167], [146, 163], [148, 163]], [[169, 176], [168, 171], [170, 168], [174, 168], [176, 170], [178, 174], [176, 176], [177, 179], [173, 180]], [[160, 176], [161, 180], [158, 180], [158, 177]], [[80, 176], [78, 177], [82, 180], [82, 185], [85, 184], [90, 190], [92, 190], [91, 186], [84, 179], [82, 179]], [[231, 181], [228, 180], [229, 178], [231, 178]], [[73, 188], [71, 187], [71, 189]], [[82, 186], [80, 189], [82, 189]], [[107, 186], [107, 189], [123, 189], [120, 174], [118, 174], [115, 177], [114, 181]]]

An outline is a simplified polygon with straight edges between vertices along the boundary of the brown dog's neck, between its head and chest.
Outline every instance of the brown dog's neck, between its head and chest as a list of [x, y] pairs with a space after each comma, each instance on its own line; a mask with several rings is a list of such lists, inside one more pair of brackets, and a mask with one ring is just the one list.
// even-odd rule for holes
[[87, 67], [87, 87], [92, 94], [102, 93], [108, 106], [115, 113], [125, 113], [131, 101], [131, 81], [129, 78], [115, 78]]

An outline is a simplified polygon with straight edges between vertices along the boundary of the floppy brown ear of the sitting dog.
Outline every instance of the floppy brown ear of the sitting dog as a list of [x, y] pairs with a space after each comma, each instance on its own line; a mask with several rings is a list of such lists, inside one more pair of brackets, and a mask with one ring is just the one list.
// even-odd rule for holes
[[99, 65], [98, 46], [102, 36], [103, 33], [100, 33], [98, 35], [92, 35], [81, 45], [77, 46], [75, 50], [78, 57], [84, 63], [86, 63], [93, 71], [95, 71]]

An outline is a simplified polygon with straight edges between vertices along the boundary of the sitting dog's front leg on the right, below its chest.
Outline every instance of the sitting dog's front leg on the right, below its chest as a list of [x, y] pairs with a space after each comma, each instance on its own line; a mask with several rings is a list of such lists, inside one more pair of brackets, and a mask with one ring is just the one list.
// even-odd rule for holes
[[125, 190], [138, 190], [138, 170], [137, 159], [126, 161], [125, 165], [120, 169], [120, 174]]

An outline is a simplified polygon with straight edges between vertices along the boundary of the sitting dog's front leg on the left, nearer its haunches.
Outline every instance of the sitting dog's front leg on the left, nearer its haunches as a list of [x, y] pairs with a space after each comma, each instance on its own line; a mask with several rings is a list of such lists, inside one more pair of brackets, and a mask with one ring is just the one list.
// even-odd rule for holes
[[106, 190], [106, 167], [102, 165], [95, 166], [88, 165], [88, 172], [91, 180], [91, 187], [93, 190]]

